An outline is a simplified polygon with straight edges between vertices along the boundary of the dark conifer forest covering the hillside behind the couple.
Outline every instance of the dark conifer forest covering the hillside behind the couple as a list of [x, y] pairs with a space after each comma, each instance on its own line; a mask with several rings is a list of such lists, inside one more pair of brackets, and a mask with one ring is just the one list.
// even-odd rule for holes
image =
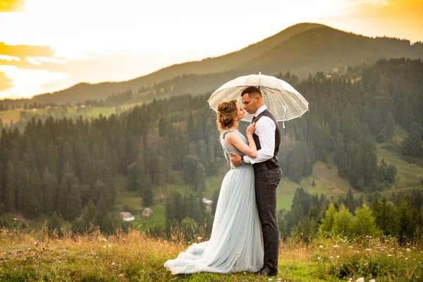
[[[376, 144], [422, 166], [421, 60], [381, 60], [350, 67], [344, 75], [319, 72], [305, 80], [290, 73], [279, 76], [310, 102], [309, 113], [286, 123], [283, 130], [278, 158], [285, 178], [299, 183], [312, 173], [316, 161], [333, 161], [339, 176], [355, 191], [376, 197], [375, 192], [398, 185], [396, 166], [378, 161]], [[158, 188], [180, 181], [191, 192], [168, 197], [168, 226], [187, 217], [185, 222], [190, 223], [200, 223], [204, 217], [212, 220], [212, 213], [200, 202], [205, 178], [216, 176], [227, 164], [214, 113], [207, 106], [208, 96], [154, 100], [107, 118], [32, 118], [22, 131], [0, 125], [0, 212], [4, 222], [8, 223], [8, 214], [23, 214], [27, 219], [46, 216], [54, 228], [60, 214], [78, 231], [94, 223], [110, 232], [118, 224], [114, 213], [118, 189], [136, 191], [142, 205], [149, 207], [160, 200]], [[405, 130], [401, 142], [393, 138], [396, 127]], [[121, 175], [128, 179], [124, 188], [116, 187], [114, 181]], [[420, 188], [421, 181], [416, 176], [409, 186]], [[331, 195], [319, 195], [320, 202], [314, 202], [318, 209], [312, 209], [307, 204], [312, 196], [300, 198], [309, 200], [289, 224], [283, 223], [289, 216], [281, 211], [281, 231], [289, 233], [312, 212], [316, 214], [314, 224], [318, 224], [327, 204], [334, 202]], [[350, 212], [369, 200], [355, 199], [358, 202]], [[411, 205], [397, 202], [402, 209]], [[415, 204], [415, 223], [421, 214], [419, 207], [421, 203]], [[293, 212], [295, 209], [288, 214], [293, 216]]]

